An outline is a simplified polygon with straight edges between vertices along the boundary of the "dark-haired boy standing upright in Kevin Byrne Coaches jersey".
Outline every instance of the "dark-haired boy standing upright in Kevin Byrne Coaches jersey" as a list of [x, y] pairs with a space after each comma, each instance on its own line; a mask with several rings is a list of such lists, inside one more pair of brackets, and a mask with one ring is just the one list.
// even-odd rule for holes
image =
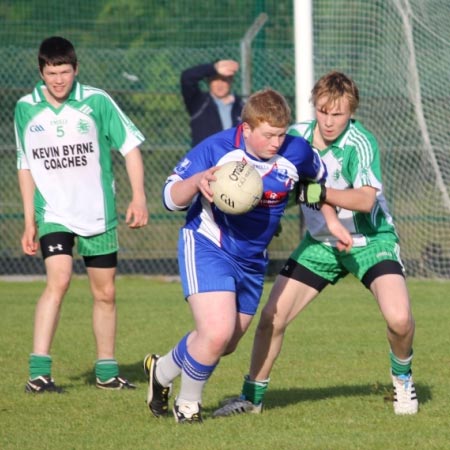
[[25, 391], [62, 391], [52, 378], [50, 349], [72, 276], [75, 241], [94, 299], [96, 386], [133, 389], [119, 375], [114, 357], [118, 237], [111, 150], [124, 156], [130, 179], [126, 222], [142, 227], [148, 218], [138, 147], [144, 137], [106, 92], [76, 80], [78, 61], [68, 40], [45, 39], [38, 62], [42, 80], [17, 102], [14, 116], [25, 219], [22, 249], [35, 255], [39, 239], [47, 274], [36, 306]]

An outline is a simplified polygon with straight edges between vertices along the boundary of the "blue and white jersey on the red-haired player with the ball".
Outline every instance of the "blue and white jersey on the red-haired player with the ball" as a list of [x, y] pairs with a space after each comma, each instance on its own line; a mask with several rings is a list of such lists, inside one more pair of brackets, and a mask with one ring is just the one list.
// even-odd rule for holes
[[201, 194], [194, 197], [187, 211], [184, 229], [196, 239], [208, 239], [237, 261], [261, 263], [275, 235], [288, 202], [288, 195], [299, 179], [323, 181], [325, 166], [319, 154], [302, 137], [287, 135], [279, 152], [268, 160], [247, 153], [242, 125], [217, 133], [202, 141], [179, 161], [166, 180], [163, 201], [167, 209], [177, 209], [170, 200], [171, 183], [220, 166], [229, 161], [252, 164], [263, 180], [259, 204], [242, 215], [220, 211]]

